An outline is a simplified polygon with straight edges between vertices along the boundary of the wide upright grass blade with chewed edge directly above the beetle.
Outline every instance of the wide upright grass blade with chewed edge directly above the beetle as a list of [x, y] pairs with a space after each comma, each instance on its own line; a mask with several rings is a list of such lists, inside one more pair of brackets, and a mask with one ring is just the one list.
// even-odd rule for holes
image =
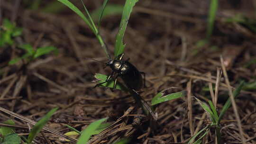
[[135, 6], [135, 3], [137, 1], [138, 0], [126, 0], [125, 2], [125, 6], [122, 13], [122, 19], [120, 22], [119, 31], [116, 38], [116, 44], [115, 44], [115, 50], [114, 50], [115, 57], [124, 52], [125, 45], [123, 44], [123, 38], [124, 38], [125, 30], [128, 24], [130, 14], [132, 12], [132, 8]]

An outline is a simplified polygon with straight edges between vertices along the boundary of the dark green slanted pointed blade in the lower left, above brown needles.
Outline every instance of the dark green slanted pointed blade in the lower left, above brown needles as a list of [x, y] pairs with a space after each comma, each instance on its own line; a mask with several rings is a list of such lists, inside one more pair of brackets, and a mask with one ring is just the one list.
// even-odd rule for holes
[[33, 139], [37, 136], [37, 134], [41, 131], [41, 129], [46, 125], [48, 120], [52, 117], [52, 115], [55, 113], [55, 111], [57, 109], [58, 108], [54, 108], [51, 111], [49, 111], [45, 115], [45, 117], [43, 117], [41, 120], [39, 120], [35, 126], [33, 126], [32, 130], [29, 133], [28, 138], [27, 138], [28, 144], [32, 143]]

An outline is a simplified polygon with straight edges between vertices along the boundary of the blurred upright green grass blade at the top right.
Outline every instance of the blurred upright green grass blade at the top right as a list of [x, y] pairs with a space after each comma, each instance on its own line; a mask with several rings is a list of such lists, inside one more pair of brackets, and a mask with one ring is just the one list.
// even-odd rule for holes
[[209, 39], [212, 34], [217, 9], [218, 9], [218, 0], [211, 0], [210, 10], [209, 10], [209, 15], [208, 15], [207, 33], [206, 33], [207, 39]]

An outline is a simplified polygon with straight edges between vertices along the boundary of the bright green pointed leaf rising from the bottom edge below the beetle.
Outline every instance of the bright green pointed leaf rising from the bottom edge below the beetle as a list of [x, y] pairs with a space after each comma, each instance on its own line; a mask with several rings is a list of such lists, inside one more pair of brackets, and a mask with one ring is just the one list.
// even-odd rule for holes
[[108, 118], [102, 118], [91, 123], [86, 129], [82, 131], [81, 136], [79, 137], [76, 144], [86, 144], [90, 139], [93, 132], [101, 125], [102, 122], [106, 121]]

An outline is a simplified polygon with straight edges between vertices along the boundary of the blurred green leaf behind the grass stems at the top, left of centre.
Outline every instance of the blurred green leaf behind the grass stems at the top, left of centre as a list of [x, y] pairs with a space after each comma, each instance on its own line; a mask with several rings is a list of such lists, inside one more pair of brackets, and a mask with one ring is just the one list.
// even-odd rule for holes
[[[102, 16], [101, 16], [102, 8], [99, 8], [99, 9], [95, 9], [94, 11], [92, 11], [91, 18], [94, 21], [99, 20], [99, 22], [100, 22], [100, 18], [102, 19], [102, 18], [106, 18], [108, 16], [121, 15], [123, 12], [123, 8], [124, 7], [119, 4], [108, 4], [108, 5], [106, 5], [106, 7], [102, 13]], [[101, 16], [101, 17], [99, 18], [99, 16]]]

